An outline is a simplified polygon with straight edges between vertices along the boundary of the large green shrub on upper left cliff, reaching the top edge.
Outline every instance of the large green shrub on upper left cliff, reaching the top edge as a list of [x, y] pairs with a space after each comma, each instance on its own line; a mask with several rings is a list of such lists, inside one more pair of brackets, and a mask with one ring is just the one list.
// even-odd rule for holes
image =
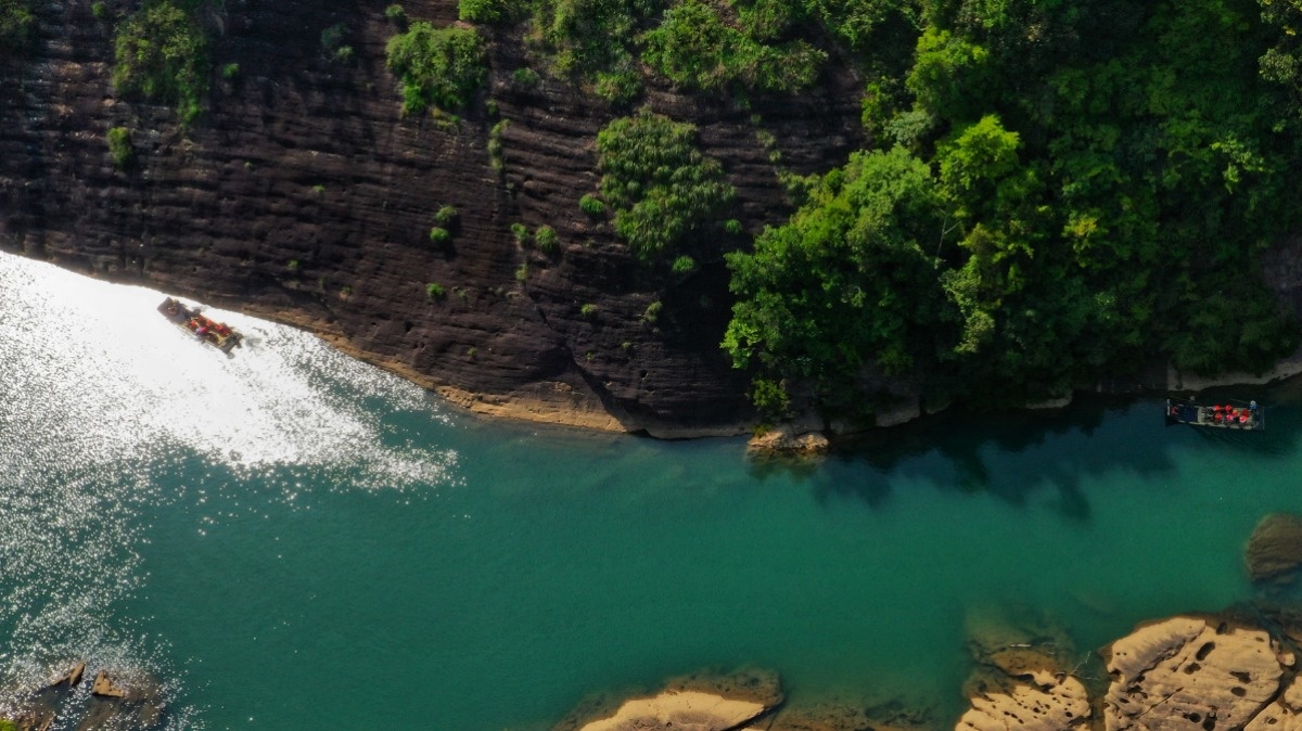
[[146, 3], [117, 26], [113, 88], [176, 104], [182, 124], [203, 112], [208, 39], [195, 10], [173, 0]]

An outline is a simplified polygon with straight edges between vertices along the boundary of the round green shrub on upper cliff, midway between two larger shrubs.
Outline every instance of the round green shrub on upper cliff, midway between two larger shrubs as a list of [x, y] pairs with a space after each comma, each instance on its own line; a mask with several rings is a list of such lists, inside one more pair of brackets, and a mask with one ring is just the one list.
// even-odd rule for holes
[[388, 65], [402, 82], [402, 112], [464, 108], [488, 74], [484, 43], [474, 30], [411, 23], [389, 39]]

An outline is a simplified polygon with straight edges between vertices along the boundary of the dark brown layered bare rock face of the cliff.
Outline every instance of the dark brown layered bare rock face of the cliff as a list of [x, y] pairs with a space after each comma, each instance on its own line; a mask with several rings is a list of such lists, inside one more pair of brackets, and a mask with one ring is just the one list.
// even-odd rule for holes
[[[526, 53], [503, 30], [460, 121], [404, 117], [384, 65], [396, 31], [385, 4], [228, 0], [211, 18], [223, 29], [212, 60], [240, 72], [214, 72], [208, 112], [189, 129], [168, 107], [115, 95], [112, 27], [90, 0], [43, 7], [34, 57], [0, 78], [0, 247], [299, 324], [480, 411], [661, 434], [745, 424], [745, 379], [719, 350], [730, 315], [721, 242], [689, 242], [700, 269], [676, 281], [578, 207], [596, 189], [598, 130], [629, 111], [546, 73], [514, 85]], [[454, 0], [404, 8], [456, 21]], [[349, 62], [322, 48], [339, 23]], [[797, 173], [862, 142], [859, 82], [832, 66], [816, 95], [750, 109], [665, 87], [647, 103], [698, 125], [737, 189], [732, 215], [756, 232], [789, 212], [756, 130]], [[487, 151], [499, 120], [501, 173]], [[138, 160], [125, 172], [105, 144], [113, 126], [133, 130]], [[436, 246], [443, 206], [460, 217]], [[513, 222], [553, 226], [560, 250], [519, 246]], [[428, 297], [430, 282], [445, 297]], [[652, 324], [643, 313], [656, 300]]]

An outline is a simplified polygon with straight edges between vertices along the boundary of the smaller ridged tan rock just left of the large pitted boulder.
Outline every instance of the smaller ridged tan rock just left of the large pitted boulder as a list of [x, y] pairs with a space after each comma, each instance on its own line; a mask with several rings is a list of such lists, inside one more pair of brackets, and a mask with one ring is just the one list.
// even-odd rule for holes
[[958, 719], [956, 731], [1061, 731], [1087, 723], [1090, 695], [1070, 675], [1034, 672], [1030, 683], [1005, 693], [982, 693]]

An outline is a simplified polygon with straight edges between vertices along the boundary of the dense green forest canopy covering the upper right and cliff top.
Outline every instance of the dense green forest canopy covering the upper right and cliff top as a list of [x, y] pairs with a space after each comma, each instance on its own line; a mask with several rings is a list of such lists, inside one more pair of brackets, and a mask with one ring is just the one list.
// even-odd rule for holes
[[728, 254], [723, 345], [771, 412], [797, 386], [858, 411], [866, 375], [1017, 402], [1163, 360], [1259, 371], [1298, 345], [1258, 255], [1302, 212], [1302, 3], [466, 0], [462, 17], [525, 27], [543, 68], [615, 103], [659, 78], [749, 104], [855, 66], [870, 147]]

